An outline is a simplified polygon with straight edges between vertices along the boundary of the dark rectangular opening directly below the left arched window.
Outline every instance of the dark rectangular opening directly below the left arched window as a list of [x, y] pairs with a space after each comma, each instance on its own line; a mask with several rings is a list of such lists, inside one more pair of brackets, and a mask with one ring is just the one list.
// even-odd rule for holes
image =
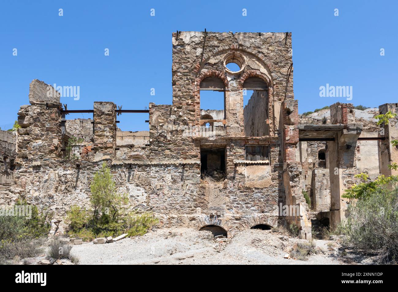
[[201, 148], [201, 178], [221, 181], [225, 178], [225, 147]]

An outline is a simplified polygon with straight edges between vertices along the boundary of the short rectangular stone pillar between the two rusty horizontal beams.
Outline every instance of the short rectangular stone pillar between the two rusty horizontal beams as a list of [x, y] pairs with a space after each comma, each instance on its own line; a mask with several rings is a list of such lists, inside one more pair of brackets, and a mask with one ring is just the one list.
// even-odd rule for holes
[[94, 160], [112, 159], [116, 147], [116, 104], [94, 102]]

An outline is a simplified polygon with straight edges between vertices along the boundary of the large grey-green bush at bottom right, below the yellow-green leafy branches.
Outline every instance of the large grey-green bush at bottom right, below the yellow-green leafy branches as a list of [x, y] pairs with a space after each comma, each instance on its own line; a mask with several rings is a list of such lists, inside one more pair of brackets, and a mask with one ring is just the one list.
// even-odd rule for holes
[[378, 264], [398, 263], [398, 188], [367, 190], [348, 212], [339, 227], [344, 243], [377, 255]]

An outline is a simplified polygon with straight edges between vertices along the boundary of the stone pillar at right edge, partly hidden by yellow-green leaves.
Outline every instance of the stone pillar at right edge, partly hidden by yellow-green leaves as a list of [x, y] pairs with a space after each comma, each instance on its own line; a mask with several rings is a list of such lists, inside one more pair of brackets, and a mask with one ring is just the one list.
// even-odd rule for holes
[[[386, 114], [392, 112], [398, 115], [398, 104], [396, 103], [385, 103], [378, 107], [380, 114]], [[381, 132], [380, 137], [385, 137], [384, 140], [380, 140], [378, 143], [379, 149], [379, 171], [385, 176], [398, 175], [398, 171], [391, 170], [388, 168], [392, 162], [398, 163], [398, 149], [391, 144], [391, 141], [398, 139], [398, 118], [391, 119], [388, 125], [380, 126], [381, 130], [384, 129], [384, 135]]]

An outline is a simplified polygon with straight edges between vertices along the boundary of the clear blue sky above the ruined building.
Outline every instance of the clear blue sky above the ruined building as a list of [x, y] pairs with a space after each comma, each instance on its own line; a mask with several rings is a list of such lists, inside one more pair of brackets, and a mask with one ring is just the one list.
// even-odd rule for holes
[[[11, 128], [20, 106], [29, 103], [32, 79], [80, 86], [80, 100], [61, 99], [68, 109], [92, 109], [94, 101], [113, 101], [123, 109], [170, 104], [172, 32], [205, 28], [292, 32], [300, 113], [347, 102], [319, 97], [326, 83], [353, 86], [354, 105], [398, 102], [397, 11], [397, 1], [2, 1], [0, 127]], [[68, 116], [74, 117], [83, 116]], [[119, 127], [147, 130], [147, 119], [123, 114]]]

